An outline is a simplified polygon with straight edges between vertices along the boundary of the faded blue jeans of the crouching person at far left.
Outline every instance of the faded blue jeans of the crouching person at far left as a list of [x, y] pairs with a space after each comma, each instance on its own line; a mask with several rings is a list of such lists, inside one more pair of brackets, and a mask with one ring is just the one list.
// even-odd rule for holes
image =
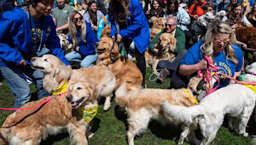
[[19, 74], [25, 73], [27, 76], [29, 76], [29, 78], [32, 78], [35, 81], [38, 99], [49, 96], [49, 93], [47, 93], [43, 88], [43, 72], [35, 71], [29, 66], [0, 66], [0, 71], [2, 72], [3, 78], [6, 80], [10, 90], [15, 96], [14, 107], [23, 106], [26, 102], [29, 101], [31, 97], [31, 91], [28, 82]]

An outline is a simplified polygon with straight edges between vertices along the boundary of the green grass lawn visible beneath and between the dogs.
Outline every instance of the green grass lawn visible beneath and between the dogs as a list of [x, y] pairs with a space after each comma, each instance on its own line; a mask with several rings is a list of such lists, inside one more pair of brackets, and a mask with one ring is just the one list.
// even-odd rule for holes
[[[147, 69], [147, 88], [167, 88], [170, 85], [170, 78], [159, 85], [156, 82], [148, 81], [151, 74], [151, 69]], [[31, 85], [31, 90], [35, 96], [35, 86]], [[235, 92], [234, 92], [235, 93]], [[3, 81], [0, 86], [0, 107], [13, 107], [14, 97], [10, 89]], [[5, 118], [12, 112], [0, 111], [0, 125], [3, 124]], [[234, 135], [227, 128], [227, 121], [218, 131], [218, 134], [211, 144], [252, 144], [252, 138], [243, 137], [242, 135]], [[36, 129], [36, 128], [35, 128]], [[118, 109], [114, 99], [111, 102], [111, 108], [104, 112], [102, 103], [100, 103], [99, 113], [93, 120], [93, 132], [95, 133], [92, 139], [88, 139], [89, 144], [127, 144], [126, 138], [127, 123], [126, 114]], [[256, 125], [253, 120], [248, 123], [247, 132], [250, 135], [256, 134]], [[199, 134], [199, 133], [198, 133]], [[180, 128], [168, 125], [162, 127], [156, 121], [150, 122], [147, 132], [134, 139], [134, 144], [176, 144], [179, 139]], [[198, 135], [200, 137], [200, 135]], [[70, 144], [68, 134], [60, 134], [51, 136], [41, 144]], [[188, 143], [185, 143], [188, 144]]]

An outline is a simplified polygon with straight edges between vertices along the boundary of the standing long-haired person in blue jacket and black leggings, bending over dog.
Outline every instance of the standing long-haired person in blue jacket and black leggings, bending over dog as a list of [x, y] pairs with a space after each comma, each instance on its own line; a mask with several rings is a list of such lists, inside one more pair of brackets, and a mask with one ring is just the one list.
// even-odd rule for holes
[[[125, 51], [129, 52], [132, 41], [135, 44], [137, 67], [143, 75], [145, 86], [146, 62], [145, 50], [150, 43], [147, 17], [139, 0], [111, 0], [109, 4], [109, 21], [111, 22], [111, 37], [119, 43], [122, 41]], [[116, 28], [119, 28], [119, 32]], [[117, 33], [117, 34], [116, 34]], [[120, 68], [122, 69], [122, 68]]]

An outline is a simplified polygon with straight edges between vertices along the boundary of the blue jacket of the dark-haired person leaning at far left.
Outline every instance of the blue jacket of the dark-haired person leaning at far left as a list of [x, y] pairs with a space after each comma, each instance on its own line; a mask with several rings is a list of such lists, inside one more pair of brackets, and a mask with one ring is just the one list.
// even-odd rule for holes
[[[38, 51], [45, 45], [52, 55], [56, 55], [67, 66], [70, 65], [61, 50], [52, 17], [42, 17], [44, 29]], [[0, 28], [0, 66], [17, 65], [22, 59], [29, 59], [34, 43], [26, 13], [18, 8], [5, 11], [0, 18]]]

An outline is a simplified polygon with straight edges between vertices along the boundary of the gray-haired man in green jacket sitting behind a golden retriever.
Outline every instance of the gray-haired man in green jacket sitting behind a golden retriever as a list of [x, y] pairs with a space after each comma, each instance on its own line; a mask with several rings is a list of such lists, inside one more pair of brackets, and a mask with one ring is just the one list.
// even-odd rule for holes
[[163, 70], [161, 71], [159, 78], [157, 79], [157, 83], [163, 83], [164, 79], [166, 79], [167, 76], [172, 76], [172, 72], [174, 72], [177, 69], [177, 67], [179, 67], [180, 61], [186, 54], [185, 34], [182, 30], [179, 29], [179, 27], [177, 27], [177, 18], [173, 17], [172, 15], [169, 15], [166, 18], [165, 29], [159, 32], [157, 36], [150, 42], [149, 50], [151, 50], [153, 53], [158, 53], [159, 50], [156, 48], [156, 44], [159, 42], [159, 37], [164, 32], [171, 33], [174, 36], [174, 38], [176, 38], [177, 43], [174, 53], [177, 56], [172, 63], [168, 60], [160, 60], [158, 62], [157, 69]]

